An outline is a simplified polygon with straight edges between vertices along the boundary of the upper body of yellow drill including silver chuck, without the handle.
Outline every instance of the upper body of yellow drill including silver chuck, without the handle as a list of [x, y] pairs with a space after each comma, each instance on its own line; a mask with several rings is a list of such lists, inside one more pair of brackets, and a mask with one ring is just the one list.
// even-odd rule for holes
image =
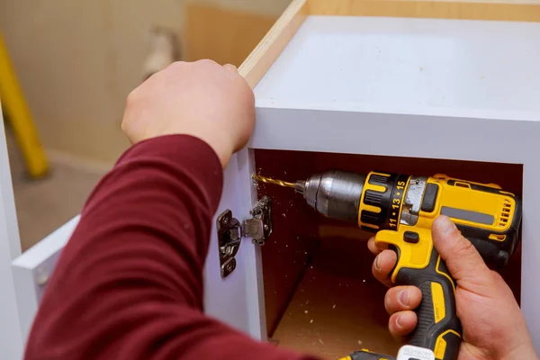
[[431, 229], [437, 216], [445, 214], [490, 267], [506, 266], [518, 247], [521, 200], [497, 184], [441, 174], [340, 170], [311, 175], [304, 184], [301, 192], [311, 207], [369, 232], [398, 231], [401, 225]]

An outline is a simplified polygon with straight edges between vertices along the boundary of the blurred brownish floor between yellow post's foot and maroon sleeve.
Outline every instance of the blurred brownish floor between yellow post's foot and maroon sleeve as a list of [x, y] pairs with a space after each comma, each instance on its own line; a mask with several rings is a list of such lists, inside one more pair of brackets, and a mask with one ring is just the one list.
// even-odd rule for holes
[[24, 251], [75, 216], [105, 170], [49, 158], [49, 175], [33, 180], [25, 173], [23, 157], [9, 129], [6, 135]]

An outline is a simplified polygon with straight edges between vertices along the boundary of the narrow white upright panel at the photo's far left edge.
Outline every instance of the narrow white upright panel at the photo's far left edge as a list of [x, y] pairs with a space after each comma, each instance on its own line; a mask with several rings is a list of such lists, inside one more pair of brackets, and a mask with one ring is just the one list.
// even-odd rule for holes
[[11, 267], [12, 260], [21, 254], [21, 240], [1, 106], [0, 132], [0, 357], [11, 360], [21, 358], [23, 348]]

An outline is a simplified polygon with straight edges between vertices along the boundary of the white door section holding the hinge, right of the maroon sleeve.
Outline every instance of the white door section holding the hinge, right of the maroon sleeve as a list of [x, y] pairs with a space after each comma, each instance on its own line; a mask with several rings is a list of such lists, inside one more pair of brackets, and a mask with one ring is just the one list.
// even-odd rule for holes
[[[218, 215], [229, 209], [240, 222], [249, 217], [252, 204], [257, 201], [255, 193], [252, 193], [253, 172], [253, 155], [249, 150], [242, 150], [232, 157], [225, 170]], [[260, 248], [244, 238], [236, 255], [236, 269], [221, 278], [217, 235], [214, 220], [204, 277], [206, 312], [253, 338], [266, 340]]]

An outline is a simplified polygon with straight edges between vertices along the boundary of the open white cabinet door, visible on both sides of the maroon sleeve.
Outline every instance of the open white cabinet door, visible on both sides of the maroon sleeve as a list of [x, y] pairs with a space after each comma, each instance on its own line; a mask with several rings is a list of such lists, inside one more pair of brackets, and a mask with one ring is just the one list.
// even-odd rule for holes
[[[226, 209], [232, 211], [233, 216], [238, 220], [247, 218], [252, 203], [250, 192], [252, 167], [252, 156], [246, 149], [233, 156], [225, 170], [223, 193], [218, 213], [214, 217], [211, 245], [204, 270], [204, 304], [205, 311], [212, 317], [227, 322], [254, 338], [266, 338], [264, 317], [260, 312], [264, 311], [264, 307], [259, 306], [259, 301], [263, 302], [259, 248], [249, 239], [244, 238], [235, 257], [236, 269], [227, 277], [222, 278], [215, 221], [220, 212]], [[78, 220], [79, 217], [76, 216], [68, 221], [13, 262], [23, 339], [28, 336], [31, 329], [31, 322], [38, 309], [41, 294], [54, 270], [60, 251], [76, 228]], [[13, 284], [11, 289], [13, 289]]]

